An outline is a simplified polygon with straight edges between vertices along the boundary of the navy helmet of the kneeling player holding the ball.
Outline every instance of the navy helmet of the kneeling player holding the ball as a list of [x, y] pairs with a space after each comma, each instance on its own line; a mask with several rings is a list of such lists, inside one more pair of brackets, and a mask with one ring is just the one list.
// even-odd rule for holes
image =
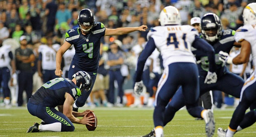
[[89, 91], [92, 86], [92, 78], [90, 74], [85, 71], [79, 71], [73, 74], [73, 78], [76, 79], [76, 86], [79, 87], [81, 91]]

